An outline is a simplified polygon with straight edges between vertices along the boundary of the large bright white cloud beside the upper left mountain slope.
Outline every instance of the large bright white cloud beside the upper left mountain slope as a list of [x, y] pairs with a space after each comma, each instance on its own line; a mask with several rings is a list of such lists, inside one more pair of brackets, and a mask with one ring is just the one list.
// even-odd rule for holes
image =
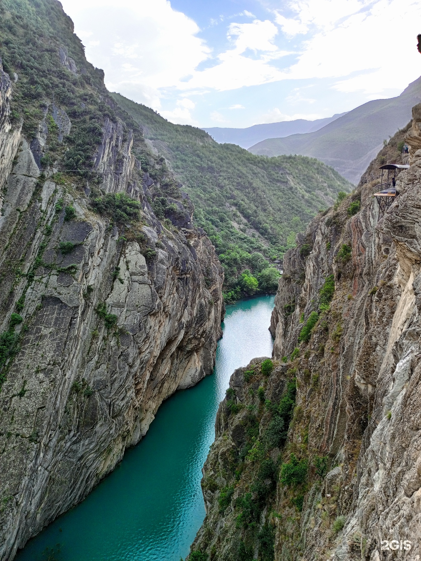
[[[106, 85], [138, 102], [161, 107], [161, 89], [178, 86], [211, 53], [198, 25], [168, 0], [62, 0], [86, 44], [86, 56], [103, 68]], [[130, 62], [130, 66], [126, 63]]]

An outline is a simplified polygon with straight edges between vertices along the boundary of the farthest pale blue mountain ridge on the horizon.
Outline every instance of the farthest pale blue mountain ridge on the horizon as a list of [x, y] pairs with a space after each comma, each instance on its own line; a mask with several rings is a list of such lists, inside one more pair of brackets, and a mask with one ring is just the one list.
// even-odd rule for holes
[[315, 121], [306, 121], [305, 119], [295, 119], [295, 121], [280, 121], [278, 123], [267, 123], [264, 125], [253, 125], [247, 128], [223, 128], [212, 127], [204, 128], [214, 140], [223, 144], [238, 144], [242, 148], [250, 148], [257, 142], [269, 138], [280, 138], [283, 136], [303, 134], [305, 132], [318, 131], [328, 123], [335, 121], [338, 117], [342, 117], [345, 113], [337, 113], [333, 117], [324, 119], [316, 119]]

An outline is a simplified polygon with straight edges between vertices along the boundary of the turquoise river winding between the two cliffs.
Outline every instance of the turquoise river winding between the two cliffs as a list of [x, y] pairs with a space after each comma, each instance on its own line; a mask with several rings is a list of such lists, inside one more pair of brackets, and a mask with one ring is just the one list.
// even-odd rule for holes
[[180, 561], [205, 516], [200, 479], [232, 372], [271, 356], [273, 296], [227, 306], [214, 374], [162, 404], [140, 443], [16, 561]]

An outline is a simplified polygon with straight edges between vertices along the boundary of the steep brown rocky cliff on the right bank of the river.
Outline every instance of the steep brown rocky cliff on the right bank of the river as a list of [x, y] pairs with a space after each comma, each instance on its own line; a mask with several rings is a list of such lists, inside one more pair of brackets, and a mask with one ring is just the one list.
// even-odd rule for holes
[[[285, 255], [271, 324], [274, 369], [265, 377], [258, 360], [251, 375], [243, 369], [231, 378], [235, 396], [221, 406], [204, 468], [208, 514], [192, 547], [196, 556], [418, 559], [417, 127], [416, 119], [407, 139], [412, 165], [400, 174], [399, 196], [384, 216], [372, 198], [373, 185], [360, 186], [319, 214]], [[294, 413], [285, 443], [275, 442], [269, 429], [285, 430], [279, 419], [288, 380], [296, 387]], [[278, 394], [276, 386], [282, 387]], [[256, 398], [250, 402], [253, 392], [260, 392], [260, 405]], [[229, 399], [236, 408], [228, 407], [223, 424]], [[254, 416], [255, 431], [241, 456], [237, 437], [239, 426], [247, 430], [245, 411]], [[231, 471], [228, 459], [224, 463], [230, 448]], [[272, 471], [264, 479], [268, 465]]]

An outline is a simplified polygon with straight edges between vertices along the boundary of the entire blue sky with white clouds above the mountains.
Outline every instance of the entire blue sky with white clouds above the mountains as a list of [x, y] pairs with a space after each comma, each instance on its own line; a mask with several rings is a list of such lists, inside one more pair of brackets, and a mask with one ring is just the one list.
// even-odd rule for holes
[[419, 0], [62, 4], [108, 89], [180, 124], [330, 117], [421, 74]]

